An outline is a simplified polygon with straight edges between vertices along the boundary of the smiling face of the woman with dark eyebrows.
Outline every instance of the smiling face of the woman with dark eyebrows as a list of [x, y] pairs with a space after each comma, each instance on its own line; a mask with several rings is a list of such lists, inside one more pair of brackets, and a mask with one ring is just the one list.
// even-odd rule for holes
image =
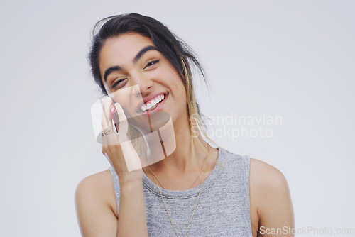
[[150, 38], [124, 33], [106, 40], [99, 67], [107, 93], [113, 93], [127, 118], [164, 111], [175, 123], [187, 115], [184, 83]]

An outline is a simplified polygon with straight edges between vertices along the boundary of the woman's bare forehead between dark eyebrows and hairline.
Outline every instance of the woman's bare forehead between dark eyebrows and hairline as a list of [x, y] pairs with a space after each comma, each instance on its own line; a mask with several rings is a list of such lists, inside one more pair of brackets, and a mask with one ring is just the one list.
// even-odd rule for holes
[[138, 33], [124, 33], [105, 41], [100, 52], [100, 68], [131, 62], [142, 48], [154, 45], [151, 38]]

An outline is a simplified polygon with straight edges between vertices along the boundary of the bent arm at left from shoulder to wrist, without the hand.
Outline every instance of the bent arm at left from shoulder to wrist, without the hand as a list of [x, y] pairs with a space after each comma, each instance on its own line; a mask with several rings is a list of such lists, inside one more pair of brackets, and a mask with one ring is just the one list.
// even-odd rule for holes
[[120, 183], [119, 218], [114, 211], [116, 196], [109, 171], [78, 184], [75, 204], [82, 236], [148, 236], [142, 182]]

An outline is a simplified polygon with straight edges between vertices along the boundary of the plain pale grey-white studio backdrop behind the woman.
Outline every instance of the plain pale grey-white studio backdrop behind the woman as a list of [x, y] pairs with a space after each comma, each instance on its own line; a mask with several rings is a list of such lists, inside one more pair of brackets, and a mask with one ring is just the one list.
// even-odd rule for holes
[[91, 30], [130, 12], [195, 49], [212, 89], [198, 94], [205, 115], [282, 117], [262, 125], [271, 138], [216, 139], [283, 172], [296, 228], [355, 228], [354, 1], [22, 0], [0, 9], [0, 236], [80, 236], [75, 187], [109, 167], [90, 117], [100, 97], [86, 58]]

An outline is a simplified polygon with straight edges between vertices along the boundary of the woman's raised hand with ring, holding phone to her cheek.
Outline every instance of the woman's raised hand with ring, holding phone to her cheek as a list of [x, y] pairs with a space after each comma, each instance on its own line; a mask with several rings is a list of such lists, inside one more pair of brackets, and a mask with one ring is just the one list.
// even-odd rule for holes
[[[111, 97], [104, 98], [103, 109], [102, 130], [105, 133], [102, 133], [102, 154], [116, 170], [121, 184], [141, 181], [143, 178], [141, 160], [127, 135], [129, 124], [124, 110], [119, 103], [114, 104]], [[119, 116], [118, 133], [114, 131], [112, 113]]]

